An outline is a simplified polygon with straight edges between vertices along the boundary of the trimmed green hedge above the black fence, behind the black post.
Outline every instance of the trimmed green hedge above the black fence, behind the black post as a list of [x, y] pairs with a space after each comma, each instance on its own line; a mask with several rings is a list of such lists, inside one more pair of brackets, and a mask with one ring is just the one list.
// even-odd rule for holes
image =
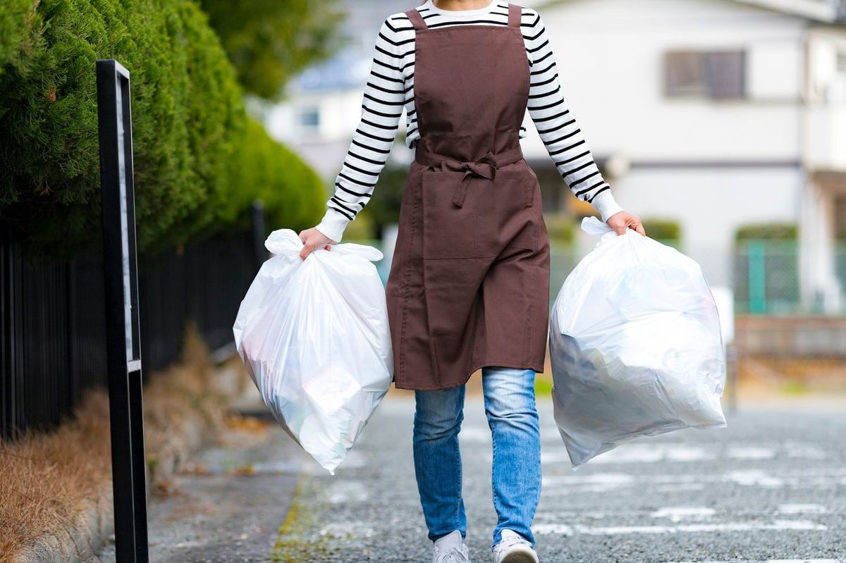
[[36, 254], [100, 236], [97, 58], [132, 78], [140, 253], [237, 224], [255, 197], [274, 228], [322, 214], [320, 178], [247, 118], [191, 0], [5, 0], [0, 57], [0, 216]]

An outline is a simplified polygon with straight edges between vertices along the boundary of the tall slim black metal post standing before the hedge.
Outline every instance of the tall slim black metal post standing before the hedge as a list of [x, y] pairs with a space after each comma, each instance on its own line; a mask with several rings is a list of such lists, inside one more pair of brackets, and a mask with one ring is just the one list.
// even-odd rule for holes
[[115, 548], [119, 563], [147, 563], [129, 71], [102, 59], [96, 73]]

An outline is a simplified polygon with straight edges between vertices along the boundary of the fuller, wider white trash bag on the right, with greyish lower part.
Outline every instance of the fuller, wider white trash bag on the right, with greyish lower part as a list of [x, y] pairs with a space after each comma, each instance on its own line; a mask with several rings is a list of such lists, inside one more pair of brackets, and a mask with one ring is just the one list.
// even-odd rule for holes
[[639, 436], [722, 428], [725, 361], [700, 265], [596, 217], [550, 314], [552, 402], [573, 468]]

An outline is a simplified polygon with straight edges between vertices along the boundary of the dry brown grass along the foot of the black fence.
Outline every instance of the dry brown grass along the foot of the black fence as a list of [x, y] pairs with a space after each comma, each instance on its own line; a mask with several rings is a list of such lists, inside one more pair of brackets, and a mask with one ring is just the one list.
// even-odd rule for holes
[[[145, 386], [147, 467], [160, 490], [168, 490], [168, 480], [188, 456], [227, 423], [231, 390], [218, 385], [209, 351], [193, 326], [183, 350], [178, 364], [147, 376]], [[101, 529], [110, 527], [109, 441], [104, 390], [89, 392], [74, 418], [55, 431], [0, 441], [0, 561], [68, 538], [85, 546], [92, 511]]]

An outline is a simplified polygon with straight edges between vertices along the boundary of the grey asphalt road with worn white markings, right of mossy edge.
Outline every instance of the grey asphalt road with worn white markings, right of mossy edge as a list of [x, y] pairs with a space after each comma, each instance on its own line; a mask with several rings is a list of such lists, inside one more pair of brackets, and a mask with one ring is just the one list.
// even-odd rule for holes
[[[728, 413], [728, 428], [636, 440], [577, 471], [540, 401], [541, 561], [846, 561], [846, 409]], [[382, 402], [332, 477], [302, 462], [275, 560], [429, 561], [411, 458], [413, 402]], [[468, 544], [496, 522], [481, 398], [461, 431]]]

